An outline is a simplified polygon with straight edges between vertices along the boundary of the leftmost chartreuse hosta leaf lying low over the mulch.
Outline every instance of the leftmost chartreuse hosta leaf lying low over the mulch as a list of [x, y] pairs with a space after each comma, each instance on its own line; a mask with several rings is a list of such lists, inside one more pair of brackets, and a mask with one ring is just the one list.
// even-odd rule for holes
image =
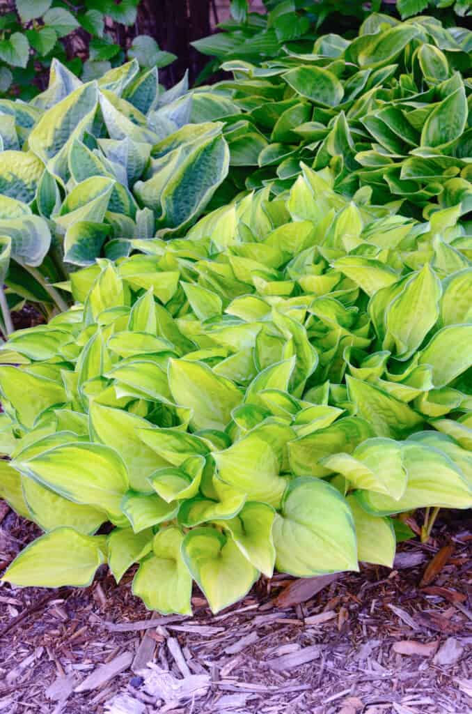
[[84, 588], [103, 563], [101, 545], [100, 537], [56, 528], [27, 545], [1, 579], [21, 587]]

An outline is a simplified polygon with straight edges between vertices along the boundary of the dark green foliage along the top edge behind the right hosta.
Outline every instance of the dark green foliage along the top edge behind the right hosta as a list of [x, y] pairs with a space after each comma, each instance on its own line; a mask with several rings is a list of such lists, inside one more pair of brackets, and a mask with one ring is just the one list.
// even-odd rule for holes
[[354, 29], [379, 11], [384, 11], [390, 22], [396, 22], [392, 13], [406, 20], [426, 11], [433, 16], [430, 19], [437, 16], [450, 26], [472, 14], [470, 0], [374, 0], [369, 4], [352, 0], [264, 0], [264, 4], [267, 14], [259, 14], [250, 11], [247, 0], [233, 0], [231, 17], [218, 25], [220, 32], [192, 43], [202, 54], [214, 58], [205, 74], [232, 59], [262, 64], [283, 57], [286, 49], [310, 52], [321, 27], [339, 27], [339, 32], [352, 36]]

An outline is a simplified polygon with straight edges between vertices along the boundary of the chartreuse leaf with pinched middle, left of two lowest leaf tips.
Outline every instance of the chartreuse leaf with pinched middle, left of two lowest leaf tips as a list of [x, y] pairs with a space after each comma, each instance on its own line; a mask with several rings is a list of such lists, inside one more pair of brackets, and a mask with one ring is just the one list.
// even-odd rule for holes
[[140, 563], [133, 580], [133, 595], [149, 610], [163, 615], [191, 615], [192, 576], [180, 553], [183, 533], [170, 526], [156, 533], [153, 554]]

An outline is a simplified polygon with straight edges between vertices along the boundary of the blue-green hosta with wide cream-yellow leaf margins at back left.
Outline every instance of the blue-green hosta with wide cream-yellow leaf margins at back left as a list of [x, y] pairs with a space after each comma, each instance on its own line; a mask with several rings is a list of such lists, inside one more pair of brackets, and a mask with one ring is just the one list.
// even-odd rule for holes
[[229, 151], [221, 122], [189, 123], [187, 89], [185, 77], [163, 91], [156, 67], [136, 59], [85, 84], [53, 61], [42, 94], [0, 99], [0, 277], [11, 293], [64, 309], [53, 283], [63, 288], [71, 266], [195, 222]]

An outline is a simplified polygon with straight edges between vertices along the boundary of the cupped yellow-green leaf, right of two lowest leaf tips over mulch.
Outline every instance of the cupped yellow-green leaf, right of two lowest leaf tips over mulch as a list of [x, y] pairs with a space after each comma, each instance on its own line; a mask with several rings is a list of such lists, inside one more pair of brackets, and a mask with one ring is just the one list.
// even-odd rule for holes
[[259, 574], [234, 540], [214, 528], [195, 528], [187, 533], [182, 555], [212, 613], [243, 598]]

